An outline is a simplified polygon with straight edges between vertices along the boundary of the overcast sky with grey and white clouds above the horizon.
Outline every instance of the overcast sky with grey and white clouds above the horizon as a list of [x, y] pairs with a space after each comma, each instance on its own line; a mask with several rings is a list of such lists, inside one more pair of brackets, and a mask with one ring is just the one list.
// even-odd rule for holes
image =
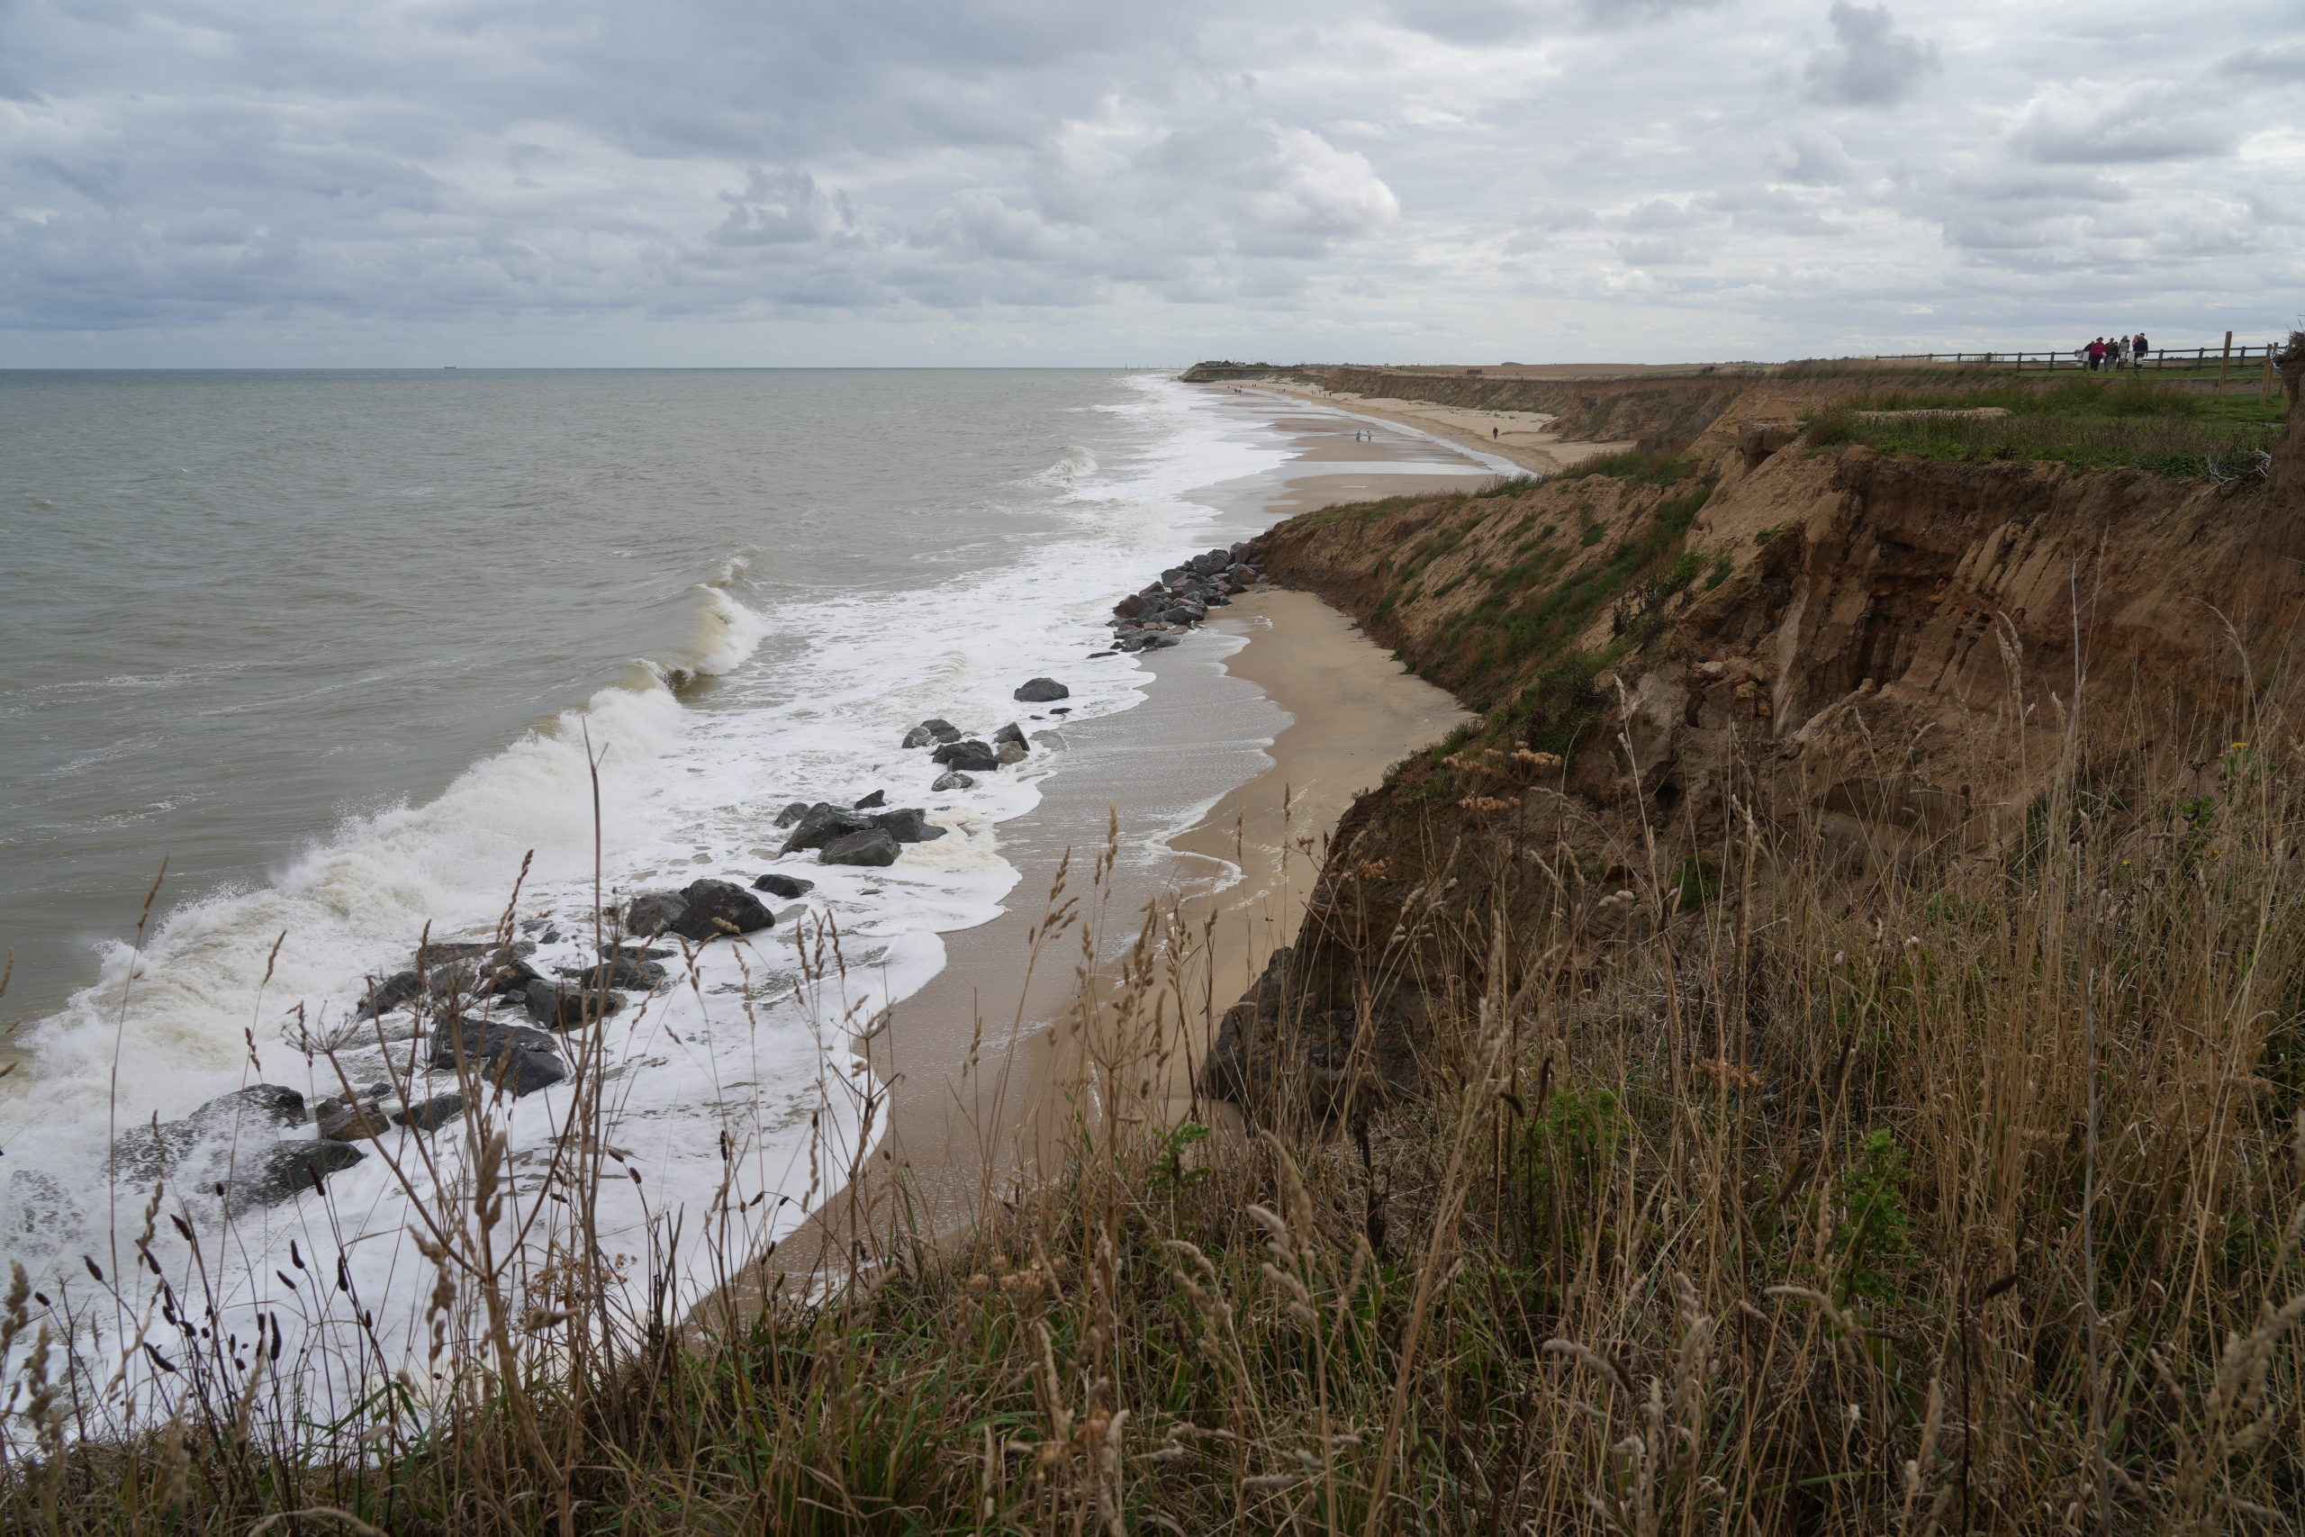
[[2300, 0], [0, 0], [0, 366], [2264, 339], [2300, 124]]

